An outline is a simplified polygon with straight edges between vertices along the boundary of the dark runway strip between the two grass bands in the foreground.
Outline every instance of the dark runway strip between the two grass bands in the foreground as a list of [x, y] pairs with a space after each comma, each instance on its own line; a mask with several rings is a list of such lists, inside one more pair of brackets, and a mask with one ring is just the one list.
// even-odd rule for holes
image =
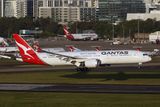
[[160, 94], [160, 86], [82, 84], [0, 84], [0, 91]]

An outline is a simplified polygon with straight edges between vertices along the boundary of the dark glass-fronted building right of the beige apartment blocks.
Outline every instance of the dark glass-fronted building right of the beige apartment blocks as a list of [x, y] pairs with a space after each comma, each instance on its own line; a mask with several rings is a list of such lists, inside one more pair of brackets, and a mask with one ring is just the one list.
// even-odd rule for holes
[[145, 13], [143, 0], [99, 0], [99, 20], [125, 20], [127, 13]]

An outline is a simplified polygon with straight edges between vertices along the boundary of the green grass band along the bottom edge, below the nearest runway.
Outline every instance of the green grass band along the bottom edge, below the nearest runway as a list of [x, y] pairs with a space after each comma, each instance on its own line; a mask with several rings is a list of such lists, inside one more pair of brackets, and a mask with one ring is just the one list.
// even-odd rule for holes
[[0, 92], [0, 107], [159, 107], [160, 95]]

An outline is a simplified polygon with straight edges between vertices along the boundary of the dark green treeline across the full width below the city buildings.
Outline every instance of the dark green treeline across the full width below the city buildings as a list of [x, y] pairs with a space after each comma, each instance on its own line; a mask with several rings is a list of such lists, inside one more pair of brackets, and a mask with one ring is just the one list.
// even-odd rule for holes
[[[120, 22], [117, 25], [111, 24], [107, 21], [71, 22], [68, 26], [72, 33], [80, 33], [83, 30], [94, 30], [101, 38], [112, 38], [113, 36], [133, 37], [134, 34], [138, 32], [151, 33], [160, 31], [160, 21], [152, 19], [148, 19], [146, 21], [125, 21]], [[13, 33], [19, 33], [19, 30], [34, 30], [37, 27], [39, 30], [43, 31], [40, 37], [63, 35], [62, 25], [54, 22], [54, 20], [50, 18], [0, 18], [0, 36], [2, 37], [10, 37]]]

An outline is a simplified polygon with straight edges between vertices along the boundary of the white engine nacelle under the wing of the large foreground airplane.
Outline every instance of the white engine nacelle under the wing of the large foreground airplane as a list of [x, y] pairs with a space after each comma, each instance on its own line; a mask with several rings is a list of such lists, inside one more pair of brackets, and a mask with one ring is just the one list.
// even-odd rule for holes
[[96, 68], [100, 64], [101, 64], [100, 60], [90, 59], [90, 60], [87, 60], [87, 61], [84, 62], [83, 67], [86, 67], [86, 68]]

